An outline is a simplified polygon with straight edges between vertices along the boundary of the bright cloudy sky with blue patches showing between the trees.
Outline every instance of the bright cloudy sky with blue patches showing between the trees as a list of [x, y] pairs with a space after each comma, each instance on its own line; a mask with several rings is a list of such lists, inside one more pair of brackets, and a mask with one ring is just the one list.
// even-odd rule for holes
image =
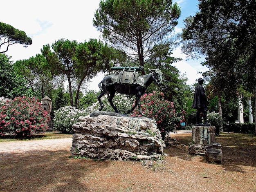
[[[65, 38], [78, 42], [88, 41], [89, 38], [99, 39], [100, 33], [92, 26], [94, 12], [99, 7], [100, 0], [8, 0], [1, 2], [0, 22], [12, 25], [16, 29], [25, 31], [32, 38], [32, 45], [24, 48], [22, 45], [11, 45], [7, 54], [11, 60], [28, 59], [40, 53], [45, 44]], [[40, 2], [40, 3], [39, 3]], [[198, 11], [198, 0], [174, 0], [181, 7], [181, 17], [176, 31], [181, 31], [183, 20], [187, 16], [195, 15]], [[185, 74], [188, 84], [196, 82], [200, 74], [207, 68], [200, 65], [199, 60], [186, 60], [180, 49], [173, 51], [173, 56], [183, 60], [175, 64], [181, 74]], [[97, 84], [102, 78], [99, 74], [92, 79], [90, 89], [99, 90]]]

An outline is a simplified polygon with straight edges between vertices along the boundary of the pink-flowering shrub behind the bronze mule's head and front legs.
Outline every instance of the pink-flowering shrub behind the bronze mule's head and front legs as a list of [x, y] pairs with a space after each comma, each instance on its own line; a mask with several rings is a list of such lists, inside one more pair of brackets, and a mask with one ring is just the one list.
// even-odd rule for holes
[[[141, 96], [141, 112], [146, 117], [155, 119], [163, 139], [166, 134], [175, 131], [176, 127], [184, 121], [185, 114], [185, 111], [182, 110], [180, 116], [178, 116], [173, 102], [165, 100], [162, 92], [153, 92]], [[131, 116], [140, 116], [137, 107]]]

